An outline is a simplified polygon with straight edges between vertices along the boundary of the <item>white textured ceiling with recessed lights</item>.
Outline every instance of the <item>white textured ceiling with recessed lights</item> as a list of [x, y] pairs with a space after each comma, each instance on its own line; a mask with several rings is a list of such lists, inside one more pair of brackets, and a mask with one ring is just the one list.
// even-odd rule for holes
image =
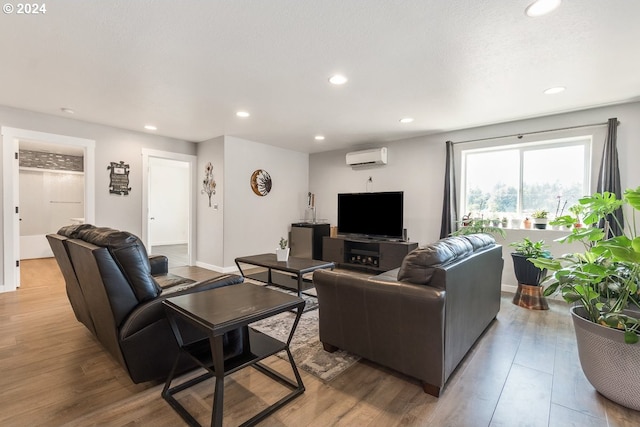
[[46, 2], [0, 15], [0, 105], [318, 152], [639, 99], [640, 1], [530, 1]]

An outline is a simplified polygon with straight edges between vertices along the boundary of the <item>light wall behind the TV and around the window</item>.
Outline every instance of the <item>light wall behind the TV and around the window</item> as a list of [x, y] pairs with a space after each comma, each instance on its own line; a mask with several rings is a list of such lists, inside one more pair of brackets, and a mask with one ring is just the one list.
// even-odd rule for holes
[[[373, 187], [370, 190], [403, 190], [405, 192], [404, 222], [408, 236], [410, 240], [424, 245], [437, 240], [440, 234], [447, 140], [455, 142], [604, 123], [612, 117], [620, 120], [618, 154], [622, 186], [635, 188], [640, 185], [640, 168], [637, 167], [637, 161], [640, 159], [639, 102], [361, 146], [357, 149], [380, 146], [386, 146], [389, 149], [388, 165], [365, 170], [353, 170], [345, 164], [344, 155], [353, 149], [312, 154], [309, 159], [309, 188], [316, 193], [318, 216], [329, 219], [334, 225], [337, 215], [337, 194], [366, 191], [366, 181], [369, 176], [373, 178]], [[602, 157], [605, 132], [603, 128], [589, 131], [599, 139], [594, 140], [592, 156], [592, 164], [597, 168]], [[592, 171], [592, 192], [595, 191], [596, 180], [597, 170]], [[511, 248], [508, 244], [522, 238], [523, 233], [525, 232], [511, 232], [504, 241], [501, 241], [505, 254], [503, 283], [515, 284], [515, 279], [509, 275]], [[533, 231], [531, 236], [536, 240], [543, 239], [548, 242], [557, 237], [555, 233], [546, 231]], [[566, 252], [569, 252], [568, 249]], [[554, 245], [555, 254], [564, 251], [565, 246], [555, 248]]]

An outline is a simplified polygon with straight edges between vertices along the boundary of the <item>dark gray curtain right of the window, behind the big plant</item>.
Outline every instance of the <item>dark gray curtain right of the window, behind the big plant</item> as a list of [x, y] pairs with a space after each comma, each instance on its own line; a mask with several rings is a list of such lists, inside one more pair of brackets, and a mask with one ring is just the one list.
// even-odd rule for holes
[[[598, 173], [598, 187], [596, 191], [602, 193], [608, 191], [622, 198], [622, 187], [620, 186], [620, 170], [618, 169], [618, 119], [608, 120], [607, 139], [604, 142], [602, 152], [602, 163]], [[615, 218], [614, 218], [615, 216]], [[624, 232], [624, 217], [622, 209], [618, 209], [607, 217], [613, 236], [620, 236]], [[620, 224], [620, 225], [619, 225]], [[600, 227], [604, 227], [604, 221], [600, 222]], [[611, 235], [610, 234], [610, 235]]]

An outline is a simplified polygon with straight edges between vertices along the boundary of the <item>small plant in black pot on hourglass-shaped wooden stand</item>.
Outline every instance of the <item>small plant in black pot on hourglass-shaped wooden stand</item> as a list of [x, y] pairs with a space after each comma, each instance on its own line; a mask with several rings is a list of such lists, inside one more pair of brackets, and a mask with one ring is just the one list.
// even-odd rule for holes
[[518, 280], [518, 290], [513, 297], [513, 303], [533, 310], [548, 310], [549, 305], [542, 296], [539, 287], [540, 281], [546, 274], [546, 269], [533, 264], [534, 259], [551, 258], [544, 240], [533, 242], [528, 237], [519, 242], [513, 242], [509, 246], [514, 248], [511, 253], [513, 259], [513, 271]]

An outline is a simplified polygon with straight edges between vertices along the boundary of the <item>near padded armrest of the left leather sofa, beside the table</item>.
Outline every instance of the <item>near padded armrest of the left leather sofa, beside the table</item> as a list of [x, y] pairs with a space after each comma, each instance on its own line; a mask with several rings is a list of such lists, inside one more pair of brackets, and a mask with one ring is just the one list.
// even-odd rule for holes
[[162, 301], [167, 298], [180, 295], [202, 292], [209, 289], [221, 288], [223, 286], [242, 283], [244, 278], [236, 274], [226, 274], [200, 282], [188, 283], [186, 285], [176, 285], [163, 292], [157, 298], [147, 301], [136, 307], [125, 322], [120, 327], [120, 339], [124, 340], [145, 327], [166, 317]]

